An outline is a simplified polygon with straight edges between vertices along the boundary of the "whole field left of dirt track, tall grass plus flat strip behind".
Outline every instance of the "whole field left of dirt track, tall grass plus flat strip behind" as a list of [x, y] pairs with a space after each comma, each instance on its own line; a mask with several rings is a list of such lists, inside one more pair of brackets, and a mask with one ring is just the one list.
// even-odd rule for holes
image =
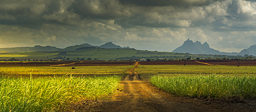
[[101, 99], [113, 94], [132, 67], [2, 66], [0, 111], [57, 111], [72, 102]]

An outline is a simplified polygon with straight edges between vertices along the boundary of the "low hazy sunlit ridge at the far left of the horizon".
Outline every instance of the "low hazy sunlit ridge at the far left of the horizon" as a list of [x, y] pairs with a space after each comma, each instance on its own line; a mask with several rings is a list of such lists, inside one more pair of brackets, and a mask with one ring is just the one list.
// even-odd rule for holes
[[12, 47], [12, 48], [0, 48], [0, 52], [27, 52], [27, 51], [56, 51], [60, 48], [52, 46], [40, 46], [36, 45], [34, 47]]

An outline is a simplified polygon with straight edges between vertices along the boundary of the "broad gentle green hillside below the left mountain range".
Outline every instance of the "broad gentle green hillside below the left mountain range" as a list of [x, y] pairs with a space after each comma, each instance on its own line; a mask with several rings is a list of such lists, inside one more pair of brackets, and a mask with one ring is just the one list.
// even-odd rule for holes
[[[66, 54], [60, 55], [63, 51], [34, 51], [34, 52], [13, 52], [13, 53], [0, 53], [0, 60], [9, 60], [15, 58], [18, 60], [48, 60], [56, 57], [63, 59], [98, 59], [98, 60], [130, 60], [130, 59], [175, 59], [191, 57], [192, 59], [200, 57], [208, 58], [209, 55], [198, 55], [189, 53], [175, 53], [175, 52], [158, 52], [158, 51], [145, 51], [136, 49], [119, 49], [119, 48], [96, 48], [84, 47], [77, 50], [66, 51]], [[210, 56], [211, 57], [211, 56]]]

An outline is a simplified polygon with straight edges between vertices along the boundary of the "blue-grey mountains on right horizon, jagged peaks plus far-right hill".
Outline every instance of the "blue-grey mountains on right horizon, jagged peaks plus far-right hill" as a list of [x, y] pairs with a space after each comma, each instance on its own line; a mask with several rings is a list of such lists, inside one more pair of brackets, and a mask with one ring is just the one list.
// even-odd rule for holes
[[207, 42], [201, 44], [201, 42], [187, 39], [182, 46], [176, 48], [172, 52], [180, 52], [180, 53], [192, 53], [192, 54], [219, 54], [219, 55], [256, 55], [256, 45], [252, 45], [247, 49], [243, 49], [240, 52], [220, 52], [219, 50], [215, 50], [210, 48]]

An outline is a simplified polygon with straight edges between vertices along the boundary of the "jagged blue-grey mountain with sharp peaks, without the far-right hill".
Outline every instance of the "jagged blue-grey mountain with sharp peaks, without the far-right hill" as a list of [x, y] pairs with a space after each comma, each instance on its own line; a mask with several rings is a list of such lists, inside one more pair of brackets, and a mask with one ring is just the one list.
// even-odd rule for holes
[[237, 52], [220, 52], [219, 50], [210, 48], [207, 42], [205, 42], [204, 44], [201, 44], [201, 42], [196, 41], [194, 43], [192, 40], [189, 40], [189, 39], [187, 39], [182, 46], [173, 50], [173, 52], [192, 53], [192, 54], [206, 53], [206, 54], [220, 54], [220, 55], [239, 55], [239, 53]]

